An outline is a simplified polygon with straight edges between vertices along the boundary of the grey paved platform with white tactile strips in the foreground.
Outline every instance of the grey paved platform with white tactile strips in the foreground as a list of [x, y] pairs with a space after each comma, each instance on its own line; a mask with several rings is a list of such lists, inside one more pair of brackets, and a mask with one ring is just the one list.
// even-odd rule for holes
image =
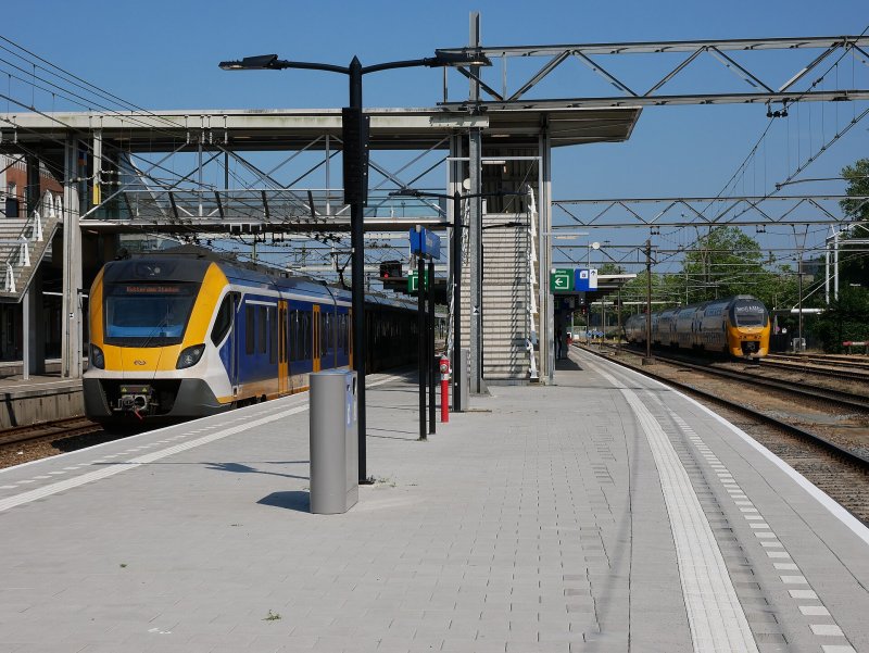
[[722, 419], [571, 352], [308, 513], [295, 395], [0, 472], [0, 652], [869, 651], [869, 530]]

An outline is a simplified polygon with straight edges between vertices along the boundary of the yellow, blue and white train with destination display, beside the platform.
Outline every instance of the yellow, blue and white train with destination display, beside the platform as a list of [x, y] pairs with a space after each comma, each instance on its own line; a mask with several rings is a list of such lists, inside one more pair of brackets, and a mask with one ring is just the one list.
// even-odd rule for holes
[[[410, 303], [366, 296], [366, 371], [417, 351]], [[101, 423], [188, 419], [305, 390], [353, 365], [351, 294], [215, 256], [108, 263], [90, 291], [85, 412]]]

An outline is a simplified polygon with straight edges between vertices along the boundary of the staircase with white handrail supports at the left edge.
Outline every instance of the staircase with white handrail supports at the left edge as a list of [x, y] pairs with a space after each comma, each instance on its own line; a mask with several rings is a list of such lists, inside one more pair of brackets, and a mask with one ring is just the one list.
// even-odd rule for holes
[[61, 224], [59, 198], [46, 192], [29, 217], [0, 216], [0, 301], [20, 302]]

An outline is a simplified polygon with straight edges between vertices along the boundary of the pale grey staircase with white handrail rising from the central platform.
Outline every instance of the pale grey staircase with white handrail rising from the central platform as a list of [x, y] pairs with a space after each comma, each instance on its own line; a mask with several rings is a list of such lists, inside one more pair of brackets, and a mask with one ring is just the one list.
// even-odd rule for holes
[[[532, 198], [530, 204], [528, 213], [490, 213], [482, 218], [482, 376], [488, 384], [524, 384], [537, 378], [533, 347], [537, 341], [537, 289], [533, 265], [530, 264], [531, 259], [536, 259], [532, 231], [537, 227], [537, 214]], [[462, 304], [465, 307], [462, 312], [462, 347], [467, 348], [470, 335], [467, 251], [464, 252], [462, 269]]]

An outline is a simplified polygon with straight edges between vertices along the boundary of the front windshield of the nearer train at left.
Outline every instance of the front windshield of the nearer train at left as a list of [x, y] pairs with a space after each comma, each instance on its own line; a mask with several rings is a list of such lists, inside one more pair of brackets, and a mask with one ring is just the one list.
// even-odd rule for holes
[[106, 344], [165, 347], [184, 338], [199, 284], [110, 284], [105, 288]]

